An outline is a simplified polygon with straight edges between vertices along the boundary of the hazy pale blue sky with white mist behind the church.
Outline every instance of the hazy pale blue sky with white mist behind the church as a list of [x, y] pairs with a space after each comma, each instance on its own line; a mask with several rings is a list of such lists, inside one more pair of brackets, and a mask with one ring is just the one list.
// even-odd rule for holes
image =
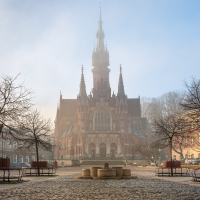
[[91, 91], [99, 2], [115, 93], [120, 64], [129, 98], [199, 79], [199, 0], [0, 0], [0, 72], [21, 73], [45, 117], [55, 118], [60, 91], [77, 97], [82, 64]]

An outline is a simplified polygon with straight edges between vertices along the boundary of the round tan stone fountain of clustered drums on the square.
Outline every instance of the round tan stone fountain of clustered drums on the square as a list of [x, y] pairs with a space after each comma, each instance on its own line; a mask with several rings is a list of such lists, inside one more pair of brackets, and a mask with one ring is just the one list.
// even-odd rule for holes
[[131, 179], [137, 178], [131, 176], [130, 169], [123, 167], [109, 168], [109, 164], [105, 163], [104, 167], [90, 167], [90, 169], [82, 169], [82, 176], [76, 176], [78, 179]]

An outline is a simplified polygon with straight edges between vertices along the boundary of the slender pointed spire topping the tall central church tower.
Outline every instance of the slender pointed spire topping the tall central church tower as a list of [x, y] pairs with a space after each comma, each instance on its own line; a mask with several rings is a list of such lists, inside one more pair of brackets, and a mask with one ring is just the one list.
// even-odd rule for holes
[[102, 21], [101, 21], [101, 6], [100, 6], [100, 16], [99, 16], [99, 29], [97, 31], [97, 47], [96, 51], [105, 51], [104, 47], [104, 31], [102, 28]]

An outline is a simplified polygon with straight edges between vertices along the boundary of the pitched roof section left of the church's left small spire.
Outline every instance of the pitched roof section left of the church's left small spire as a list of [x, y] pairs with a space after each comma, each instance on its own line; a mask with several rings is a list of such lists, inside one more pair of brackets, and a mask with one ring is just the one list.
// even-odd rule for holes
[[60, 101], [61, 117], [75, 117], [76, 109], [77, 109], [76, 99], [61, 99]]

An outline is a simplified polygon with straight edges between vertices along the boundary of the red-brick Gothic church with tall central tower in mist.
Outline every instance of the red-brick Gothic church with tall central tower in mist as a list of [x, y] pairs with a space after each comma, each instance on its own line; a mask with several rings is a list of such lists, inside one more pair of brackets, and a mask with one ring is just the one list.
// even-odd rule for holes
[[86, 92], [82, 68], [77, 98], [63, 99], [60, 95], [55, 119], [55, 141], [60, 145], [55, 148], [55, 159], [132, 160], [134, 145], [146, 142], [151, 128], [141, 117], [140, 97], [127, 98], [121, 66], [118, 92], [111, 94], [109, 65], [100, 14], [97, 45], [92, 54], [92, 92]]

